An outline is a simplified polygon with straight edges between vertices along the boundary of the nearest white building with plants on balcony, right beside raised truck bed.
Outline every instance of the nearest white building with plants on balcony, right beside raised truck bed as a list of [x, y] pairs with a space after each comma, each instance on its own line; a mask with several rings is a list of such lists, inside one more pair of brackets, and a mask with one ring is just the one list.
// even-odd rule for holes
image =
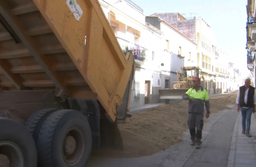
[[[130, 107], [160, 102], [158, 91], [152, 90], [152, 85], [161, 84], [163, 81], [153, 80], [152, 76], [154, 71], [160, 73], [160, 62], [163, 62], [160, 61], [163, 55], [161, 49], [163, 33], [146, 25], [143, 10], [131, 1], [100, 0], [99, 2], [122, 49], [133, 50], [135, 53], [136, 73]], [[139, 50], [140, 53], [137, 52]], [[168, 63], [166, 67], [167, 65]]]

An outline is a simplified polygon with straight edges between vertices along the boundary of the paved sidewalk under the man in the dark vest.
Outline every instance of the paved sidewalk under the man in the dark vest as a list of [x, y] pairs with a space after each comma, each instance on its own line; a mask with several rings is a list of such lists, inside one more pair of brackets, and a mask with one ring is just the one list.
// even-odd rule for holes
[[242, 134], [241, 112], [234, 126], [233, 138], [228, 157], [228, 167], [256, 166], [256, 118], [251, 118], [251, 138]]

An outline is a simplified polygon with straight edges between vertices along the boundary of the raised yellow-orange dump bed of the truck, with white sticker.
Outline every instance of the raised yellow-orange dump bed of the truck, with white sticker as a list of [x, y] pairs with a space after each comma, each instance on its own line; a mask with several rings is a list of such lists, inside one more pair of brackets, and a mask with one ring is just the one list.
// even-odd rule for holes
[[114, 121], [134, 59], [123, 55], [99, 2], [10, 0], [0, 5], [12, 30], [0, 29], [1, 89], [57, 88], [75, 99], [97, 99]]

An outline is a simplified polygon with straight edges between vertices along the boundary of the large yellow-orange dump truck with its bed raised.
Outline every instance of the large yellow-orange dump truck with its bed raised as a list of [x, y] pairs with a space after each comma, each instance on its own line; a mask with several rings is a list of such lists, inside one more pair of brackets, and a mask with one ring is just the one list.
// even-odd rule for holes
[[81, 167], [92, 148], [122, 149], [135, 64], [99, 2], [2, 0], [0, 23], [1, 165]]

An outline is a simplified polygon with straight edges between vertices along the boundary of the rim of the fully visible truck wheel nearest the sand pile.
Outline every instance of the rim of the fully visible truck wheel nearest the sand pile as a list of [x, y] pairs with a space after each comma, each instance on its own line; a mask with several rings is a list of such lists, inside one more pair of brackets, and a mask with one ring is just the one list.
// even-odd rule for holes
[[84, 136], [81, 130], [74, 127], [66, 133], [63, 142], [63, 159], [67, 165], [75, 165], [84, 153]]

